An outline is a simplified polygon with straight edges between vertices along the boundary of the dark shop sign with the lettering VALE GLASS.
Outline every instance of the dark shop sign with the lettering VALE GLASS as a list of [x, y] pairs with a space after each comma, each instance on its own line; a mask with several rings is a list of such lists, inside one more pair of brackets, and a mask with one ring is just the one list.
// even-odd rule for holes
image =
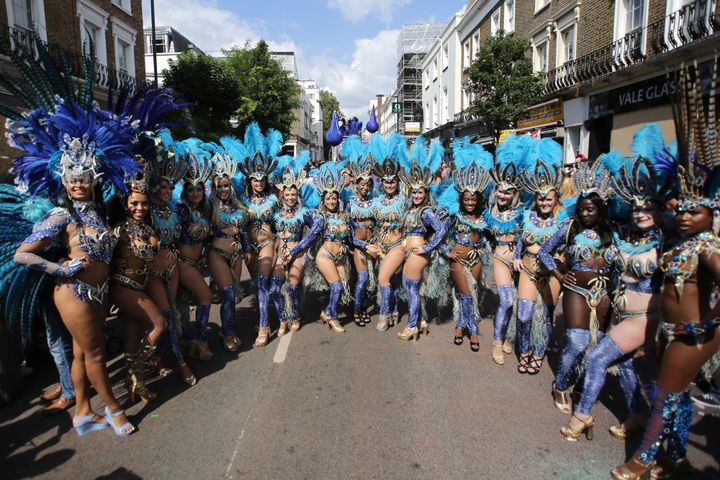
[[670, 103], [670, 98], [676, 90], [675, 80], [661, 75], [599, 95], [591, 95], [590, 118], [666, 105]]

